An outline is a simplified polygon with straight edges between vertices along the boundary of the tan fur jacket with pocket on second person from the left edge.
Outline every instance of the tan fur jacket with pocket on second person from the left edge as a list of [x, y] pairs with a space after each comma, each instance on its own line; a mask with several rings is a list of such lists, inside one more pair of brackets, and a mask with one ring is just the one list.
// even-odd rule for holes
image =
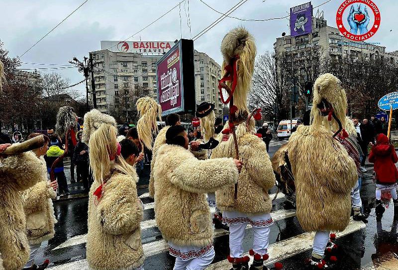
[[43, 157], [42, 174], [39, 182], [22, 193], [23, 209], [26, 215], [26, 236], [30, 245], [40, 244], [54, 237], [54, 207], [51, 199], [57, 193], [47, 181], [47, 167]]

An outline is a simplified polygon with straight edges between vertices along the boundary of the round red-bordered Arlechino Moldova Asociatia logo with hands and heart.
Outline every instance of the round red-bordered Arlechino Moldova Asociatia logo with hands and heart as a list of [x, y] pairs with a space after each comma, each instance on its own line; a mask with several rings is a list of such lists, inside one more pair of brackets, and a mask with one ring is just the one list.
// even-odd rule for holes
[[354, 41], [371, 38], [379, 29], [380, 20], [380, 10], [372, 0], [345, 0], [336, 13], [337, 28]]

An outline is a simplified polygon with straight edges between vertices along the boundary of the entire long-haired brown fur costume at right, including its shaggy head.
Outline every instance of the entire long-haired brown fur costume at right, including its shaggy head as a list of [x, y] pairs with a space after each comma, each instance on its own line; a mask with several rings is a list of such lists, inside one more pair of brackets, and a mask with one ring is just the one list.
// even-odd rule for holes
[[332, 108], [346, 128], [345, 91], [335, 76], [326, 73], [315, 81], [311, 125], [298, 126], [289, 139], [297, 217], [306, 231], [344, 230], [351, 213], [351, 189], [358, 180], [354, 161], [332, 136], [331, 130], [339, 130], [338, 122], [322, 115], [320, 108], [327, 103], [331, 106], [325, 107]]

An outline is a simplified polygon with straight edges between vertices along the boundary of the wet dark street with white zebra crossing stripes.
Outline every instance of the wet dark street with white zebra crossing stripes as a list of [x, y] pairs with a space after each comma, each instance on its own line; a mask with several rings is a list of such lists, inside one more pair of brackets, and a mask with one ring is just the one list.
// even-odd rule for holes
[[[273, 139], [270, 143], [270, 155], [287, 140]], [[66, 165], [68, 166], [68, 165]], [[149, 166], [147, 166], [148, 168]], [[368, 270], [377, 269], [373, 262], [385, 261], [395, 264], [398, 254], [398, 221], [393, 222], [392, 203], [386, 209], [382, 222], [377, 223], [375, 217], [375, 184], [372, 183], [372, 164], [367, 163], [368, 172], [365, 175], [361, 198], [365, 211], [370, 211], [369, 223], [351, 221], [347, 229], [337, 234], [339, 245], [338, 262], [333, 269]], [[66, 171], [69, 179], [69, 171]], [[140, 179], [139, 185], [147, 183], [148, 176]], [[69, 180], [68, 180], [69, 181]], [[74, 184], [76, 185], [76, 184]], [[79, 188], [74, 188], [78, 191]], [[72, 191], [72, 190], [71, 190]], [[148, 196], [147, 188], [138, 189], [138, 195], [145, 204], [144, 218], [141, 222], [142, 244], [146, 255], [145, 269], [169, 270], [173, 268], [174, 258], [168, 254], [167, 242], [156, 226], [153, 200]], [[73, 192], [72, 192], [73, 193]], [[274, 187], [269, 191], [273, 198]], [[313, 234], [304, 232], [297, 220], [294, 210], [283, 209], [283, 195], [280, 193], [273, 202], [271, 215], [274, 225], [270, 233], [269, 267], [279, 261], [285, 270], [305, 269], [304, 258], [310, 257]], [[36, 261], [39, 263], [49, 259], [53, 270], [88, 269], [86, 261], [88, 199], [73, 199], [54, 202], [56, 236], [41, 246]], [[173, 213], [170, 213], [173, 214]], [[252, 229], [246, 229], [244, 250], [248, 252], [253, 241]], [[226, 260], [228, 255], [228, 232], [214, 230], [215, 259], [207, 268], [211, 270], [229, 270]], [[392, 268], [393, 269], [393, 268]]]

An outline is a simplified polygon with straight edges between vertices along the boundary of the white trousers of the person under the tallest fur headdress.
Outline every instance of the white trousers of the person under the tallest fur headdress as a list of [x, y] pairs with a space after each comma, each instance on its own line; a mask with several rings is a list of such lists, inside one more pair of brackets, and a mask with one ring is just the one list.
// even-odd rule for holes
[[[229, 225], [229, 256], [241, 258], [243, 254], [243, 238], [245, 237], [246, 223]], [[268, 254], [268, 242], [270, 236], [270, 226], [253, 227], [254, 233], [253, 251], [260, 255]]]

